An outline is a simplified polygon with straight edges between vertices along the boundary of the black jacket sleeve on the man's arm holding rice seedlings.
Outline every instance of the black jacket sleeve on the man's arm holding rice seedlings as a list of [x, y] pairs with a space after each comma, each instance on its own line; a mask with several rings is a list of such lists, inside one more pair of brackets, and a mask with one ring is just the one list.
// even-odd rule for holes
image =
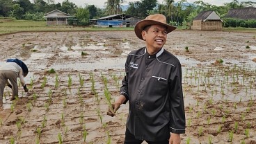
[[[128, 56], [129, 57], [129, 56]], [[129, 60], [127, 57], [127, 61], [125, 62], [125, 78], [122, 79], [122, 87], [120, 87], [120, 95], [125, 96], [126, 100], [124, 104], [129, 100], [129, 92], [128, 92], [128, 78], [129, 78]]]

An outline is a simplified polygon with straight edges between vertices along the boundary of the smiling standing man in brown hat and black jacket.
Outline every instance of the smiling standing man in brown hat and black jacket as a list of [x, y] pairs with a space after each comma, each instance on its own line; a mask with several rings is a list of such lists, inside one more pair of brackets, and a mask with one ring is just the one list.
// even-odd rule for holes
[[125, 63], [125, 78], [113, 111], [129, 101], [125, 144], [181, 143], [185, 132], [182, 68], [179, 60], [163, 48], [175, 27], [161, 14], [139, 21], [134, 31], [145, 47], [131, 51]]

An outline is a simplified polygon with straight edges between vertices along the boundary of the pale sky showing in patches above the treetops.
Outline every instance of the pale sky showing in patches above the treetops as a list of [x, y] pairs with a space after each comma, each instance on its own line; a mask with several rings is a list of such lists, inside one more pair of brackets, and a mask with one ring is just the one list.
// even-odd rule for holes
[[[55, 3], [62, 3], [64, 0], [55, 0]], [[84, 7], [86, 4], [88, 5], [95, 5], [97, 8], [104, 8], [104, 3], [107, 0], [69, 0], [72, 3], [75, 3], [77, 6], [82, 6]], [[125, 3], [121, 3], [121, 5], [126, 5], [127, 3], [131, 2], [131, 1], [141, 1], [141, 0], [124, 0], [126, 1]], [[163, 3], [163, 0], [158, 0], [159, 3]], [[194, 1], [198, 1], [198, 0], [187, 0], [189, 3], [193, 3]], [[223, 3], [230, 3], [232, 2], [232, 0], [202, 0], [205, 3], [210, 3], [211, 5], [215, 5], [215, 6], [222, 6]], [[241, 1], [246, 1], [246, 0], [239, 0]], [[254, 1], [254, 0], [253, 0]], [[177, 0], [175, 1], [177, 2]]]

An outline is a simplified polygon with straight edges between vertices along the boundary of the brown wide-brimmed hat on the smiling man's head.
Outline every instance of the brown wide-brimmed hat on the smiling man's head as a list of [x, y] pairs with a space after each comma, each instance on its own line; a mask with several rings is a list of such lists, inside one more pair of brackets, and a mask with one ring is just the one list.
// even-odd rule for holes
[[169, 24], [166, 23], [166, 16], [161, 14], [149, 15], [145, 19], [138, 21], [138, 23], [134, 28], [135, 34], [139, 39], [144, 40], [141, 35], [141, 32], [144, 30], [145, 26], [150, 26], [150, 25], [166, 26], [167, 33], [170, 33], [171, 31], [176, 29], [175, 26], [170, 26]]

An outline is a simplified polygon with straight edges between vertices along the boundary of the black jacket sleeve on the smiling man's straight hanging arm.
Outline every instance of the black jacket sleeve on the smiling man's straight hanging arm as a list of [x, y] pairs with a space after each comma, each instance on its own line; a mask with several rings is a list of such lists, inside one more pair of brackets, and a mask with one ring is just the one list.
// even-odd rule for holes
[[184, 134], [186, 118], [182, 92], [182, 68], [178, 63], [170, 73], [170, 132]]

